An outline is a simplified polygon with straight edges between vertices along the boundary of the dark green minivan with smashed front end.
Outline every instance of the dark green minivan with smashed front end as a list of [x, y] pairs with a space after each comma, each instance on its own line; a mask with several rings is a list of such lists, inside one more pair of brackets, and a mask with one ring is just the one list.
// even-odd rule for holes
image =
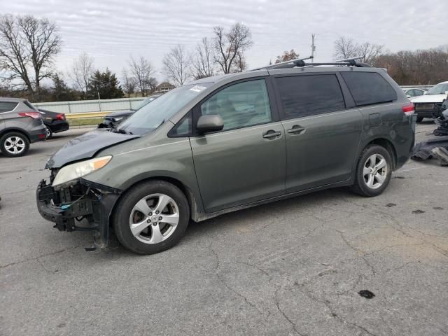
[[45, 166], [41, 216], [151, 254], [190, 221], [326, 188], [381, 194], [414, 146], [414, 106], [384, 69], [289, 65], [196, 80], [72, 139]]

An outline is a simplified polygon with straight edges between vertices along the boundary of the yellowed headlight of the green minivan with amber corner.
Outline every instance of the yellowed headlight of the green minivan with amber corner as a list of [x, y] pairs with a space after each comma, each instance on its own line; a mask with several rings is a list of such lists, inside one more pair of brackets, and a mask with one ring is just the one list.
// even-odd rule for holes
[[76, 162], [72, 165], [62, 167], [53, 180], [52, 187], [60, 186], [64, 183], [76, 180], [81, 176], [90, 174], [107, 165], [111, 158], [111, 155], [102, 156], [101, 158]]

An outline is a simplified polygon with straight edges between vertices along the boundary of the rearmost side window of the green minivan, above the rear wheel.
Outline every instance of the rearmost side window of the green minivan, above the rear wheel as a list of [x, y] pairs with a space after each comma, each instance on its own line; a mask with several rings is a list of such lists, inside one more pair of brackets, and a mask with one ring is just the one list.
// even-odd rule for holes
[[341, 72], [356, 106], [393, 102], [397, 93], [379, 73]]

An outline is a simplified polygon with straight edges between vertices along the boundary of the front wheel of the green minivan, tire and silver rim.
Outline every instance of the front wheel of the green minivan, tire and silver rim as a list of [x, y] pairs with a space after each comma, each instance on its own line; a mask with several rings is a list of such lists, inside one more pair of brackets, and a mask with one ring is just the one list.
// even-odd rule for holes
[[[163, 207], [161, 204], [165, 203]], [[132, 187], [121, 197], [112, 216], [120, 243], [139, 254], [159, 253], [176, 245], [189, 221], [190, 207], [185, 195], [165, 181], [146, 181]]]

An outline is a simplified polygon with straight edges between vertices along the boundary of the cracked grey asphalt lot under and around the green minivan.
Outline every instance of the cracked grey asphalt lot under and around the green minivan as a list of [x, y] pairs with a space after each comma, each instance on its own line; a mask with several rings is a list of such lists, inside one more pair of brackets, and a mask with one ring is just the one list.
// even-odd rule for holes
[[48, 156], [82, 132], [0, 155], [0, 335], [448, 334], [437, 161], [407, 162], [379, 197], [327, 190], [191, 223], [157, 255], [86, 252], [90, 233], [58, 232], [34, 200]]

